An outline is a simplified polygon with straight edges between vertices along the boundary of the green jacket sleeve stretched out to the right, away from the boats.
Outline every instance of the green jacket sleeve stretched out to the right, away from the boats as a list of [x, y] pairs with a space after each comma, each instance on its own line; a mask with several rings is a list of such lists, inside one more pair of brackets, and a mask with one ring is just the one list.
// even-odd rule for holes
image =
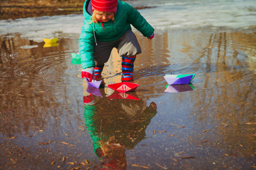
[[131, 5], [127, 4], [127, 22], [138, 29], [143, 36], [148, 37], [154, 32], [154, 28], [147, 22], [146, 19], [133, 8]]

